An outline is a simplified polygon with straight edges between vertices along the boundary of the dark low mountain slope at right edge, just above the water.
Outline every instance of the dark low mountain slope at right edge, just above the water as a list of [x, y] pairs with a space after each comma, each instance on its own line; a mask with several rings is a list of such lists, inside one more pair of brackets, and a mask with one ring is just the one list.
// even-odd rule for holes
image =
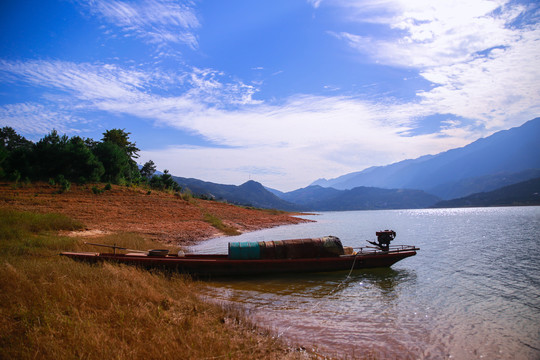
[[540, 205], [540, 177], [500, 189], [441, 201], [433, 207], [518, 206]]

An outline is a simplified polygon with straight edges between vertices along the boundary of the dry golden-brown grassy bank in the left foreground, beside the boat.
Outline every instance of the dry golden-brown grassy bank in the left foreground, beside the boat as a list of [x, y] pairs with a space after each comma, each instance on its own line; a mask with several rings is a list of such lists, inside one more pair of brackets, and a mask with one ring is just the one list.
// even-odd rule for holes
[[[203, 302], [179, 274], [89, 265], [58, 256], [90, 250], [58, 231], [64, 215], [0, 209], [0, 359], [283, 359], [290, 351], [233, 308]], [[138, 235], [93, 241], [163, 248]]]

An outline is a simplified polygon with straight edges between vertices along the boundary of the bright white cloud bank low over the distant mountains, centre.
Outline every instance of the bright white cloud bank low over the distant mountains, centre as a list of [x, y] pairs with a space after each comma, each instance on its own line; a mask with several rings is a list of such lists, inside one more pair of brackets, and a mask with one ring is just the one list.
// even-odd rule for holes
[[[307, 186], [306, 179], [438, 153], [478, 137], [460, 124], [448, 124], [439, 134], [402, 136], [418, 111], [408, 105], [313, 96], [281, 106], [205, 109], [189, 119], [172, 111], [161, 121], [172, 127], [184, 127], [187, 121], [191, 129], [227, 147], [172, 147], [143, 151], [141, 158], [187, 177], [239, 184], [251, 176], [280, 190], [293, 190]], [[255, 166], [269, 171], [253, 174], [249, 167]]]

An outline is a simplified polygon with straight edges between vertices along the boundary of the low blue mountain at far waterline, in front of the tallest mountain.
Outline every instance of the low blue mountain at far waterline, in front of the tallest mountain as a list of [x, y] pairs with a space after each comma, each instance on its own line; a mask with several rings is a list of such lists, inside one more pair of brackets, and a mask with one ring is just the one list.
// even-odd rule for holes
[[364, 186], [351, 190], [308, 186], [283, 194], [283, 199], [312, 211], [416, 209], [430, 207], [440, 200], [421, 190]]

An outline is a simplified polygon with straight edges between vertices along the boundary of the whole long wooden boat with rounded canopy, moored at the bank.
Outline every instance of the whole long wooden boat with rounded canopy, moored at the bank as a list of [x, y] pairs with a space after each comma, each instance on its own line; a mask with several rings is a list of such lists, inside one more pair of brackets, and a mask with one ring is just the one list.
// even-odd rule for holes
[[[335, 237], [329, 237], [335, 242]], [[339, 239], [338, 245], [341, 245]], [[197, 276], [265, 275], [299, 272], [347, 271], [377, 267], [390, 267], [409, 256], [416, 255], [417, 247], [408, 245], [387, 246], [384, 250], [367, 247], [345, 254], [328, 250], [328, 238], [299, 239], [261, 242], [259, 257], [254, 258], [251, 246], [255, 243], [229, 243], [229, 254], [168, 254], [167, 250], [130, 251], [122, 254], [117, 246], [92, 244], [114, 248], [112, 253], [63, 252], [61, 255], [74, 260], [92, 263], [102, 261], [137, 265], [144, 268], [161, 268]], [[259, 244], [261, 244], [259, 243]], [[250, 245], [251, 244], [251, 245]], [[262, 244], [261, 244], [262, 245]], [[331, 244], [332, 245], [332, 244]], [[269, 251], [269, 248], [274, 248]], [[281, 247], [281, 253], [277, 250]], [[240, 252], [233, 251], [240, 249]], [[244, 251], [246, 250], [247, 251]], [[311, 250], [310, 250], [311, 249]], [[318, 254], [313, 253], [313, 249]], [[266, 254], [266, 255], [265, 255]], [[270, 254], [270, 256], [268, 255]], [[318, 256], [317, 256], [318, 255]]]

